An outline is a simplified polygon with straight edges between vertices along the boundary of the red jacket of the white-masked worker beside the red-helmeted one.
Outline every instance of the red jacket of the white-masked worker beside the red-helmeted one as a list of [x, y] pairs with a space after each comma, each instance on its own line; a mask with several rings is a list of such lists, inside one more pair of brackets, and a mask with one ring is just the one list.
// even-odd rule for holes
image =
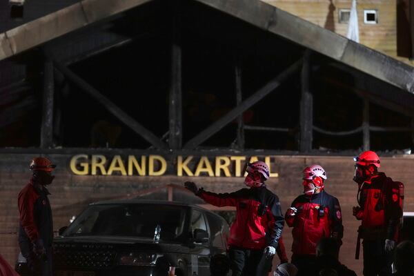
[[316, 255], [316, 244], [322, 237], [336, 237], [339, 244], [344, 234], [339, 201], [324, 190], [316, 195], [299, 195], [292, 205], [297, 214], [285, 219], [293, 227], [292, 252], [296, 255]]

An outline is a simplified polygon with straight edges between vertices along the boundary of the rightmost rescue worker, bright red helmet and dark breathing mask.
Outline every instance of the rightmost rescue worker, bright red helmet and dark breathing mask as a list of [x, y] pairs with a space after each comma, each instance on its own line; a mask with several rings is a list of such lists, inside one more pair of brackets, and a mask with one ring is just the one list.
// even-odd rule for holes
[[402, 217], [400, 187], [384, 172], [378, 172], [380, 158], [375, 152], [364, 151], [354, 160], [353, 180], [358, 184], [359, 206], [353, 208], [353, 215], [362, 221], [358, 230], [357, 251], [361, 238], [364, 276], [391, 275], [393, 250]]

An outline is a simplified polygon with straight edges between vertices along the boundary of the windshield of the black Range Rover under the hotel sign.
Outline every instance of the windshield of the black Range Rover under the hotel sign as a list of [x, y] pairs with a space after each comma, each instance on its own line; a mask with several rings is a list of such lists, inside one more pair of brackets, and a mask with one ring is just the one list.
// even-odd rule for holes
[[174, 241], [184, 233], [186, 208], [155, 204], [102, 204], [89, 206], [63, 233], [73, 236], [144, 237], [153, 239], [161, 226], [160, 241]]

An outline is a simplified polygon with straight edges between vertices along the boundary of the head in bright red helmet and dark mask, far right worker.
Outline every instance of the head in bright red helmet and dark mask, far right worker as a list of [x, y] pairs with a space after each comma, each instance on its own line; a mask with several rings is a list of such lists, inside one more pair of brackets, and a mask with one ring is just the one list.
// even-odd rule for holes
[[380, 168], [380, 157], [372, 150], [366, 150], [359, 156], [354, 157], [355, 174], [353, 180], [357, 184], [362, 184], [368, 181], [374, 175], [377, 175], [378, 168]]

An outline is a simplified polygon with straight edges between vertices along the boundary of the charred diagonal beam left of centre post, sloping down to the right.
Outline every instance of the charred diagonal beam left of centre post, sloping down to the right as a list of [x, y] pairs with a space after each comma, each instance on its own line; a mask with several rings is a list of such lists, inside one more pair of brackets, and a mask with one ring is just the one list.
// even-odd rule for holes
[[81, 90], [88, 93], [92, 98], [94, 98], [96, 101], [101, 103], [102, 106], [104, 106], [112, 115], [117, 117], [120, 121], [122, 121], [126, 126], [131, 128], [133, 131], [135, 131], [138, 135], [146, 139], [150, 144], [155, 146], [159, 149], [165, 149], [167, 148], [166, 144], [161, 141], [157, 136], [155, 136], [150, 130], [144, 128], [144, 126], [141, 126], [135, 119], [130, 117], [124, 110], [121, 110], [118, 106], [115, 105], [115, 103], [112, 103], [110, 99], [103, 96], [98, 90], [90, 86], [89, 83], [81, 79], [79, 76], [77, 76], [74, 72], [69, 70], [66, 66], [63, 66], [63, 64], [55, 61], [56, 68], [65, 75], [65, 77], [75, 83]]

